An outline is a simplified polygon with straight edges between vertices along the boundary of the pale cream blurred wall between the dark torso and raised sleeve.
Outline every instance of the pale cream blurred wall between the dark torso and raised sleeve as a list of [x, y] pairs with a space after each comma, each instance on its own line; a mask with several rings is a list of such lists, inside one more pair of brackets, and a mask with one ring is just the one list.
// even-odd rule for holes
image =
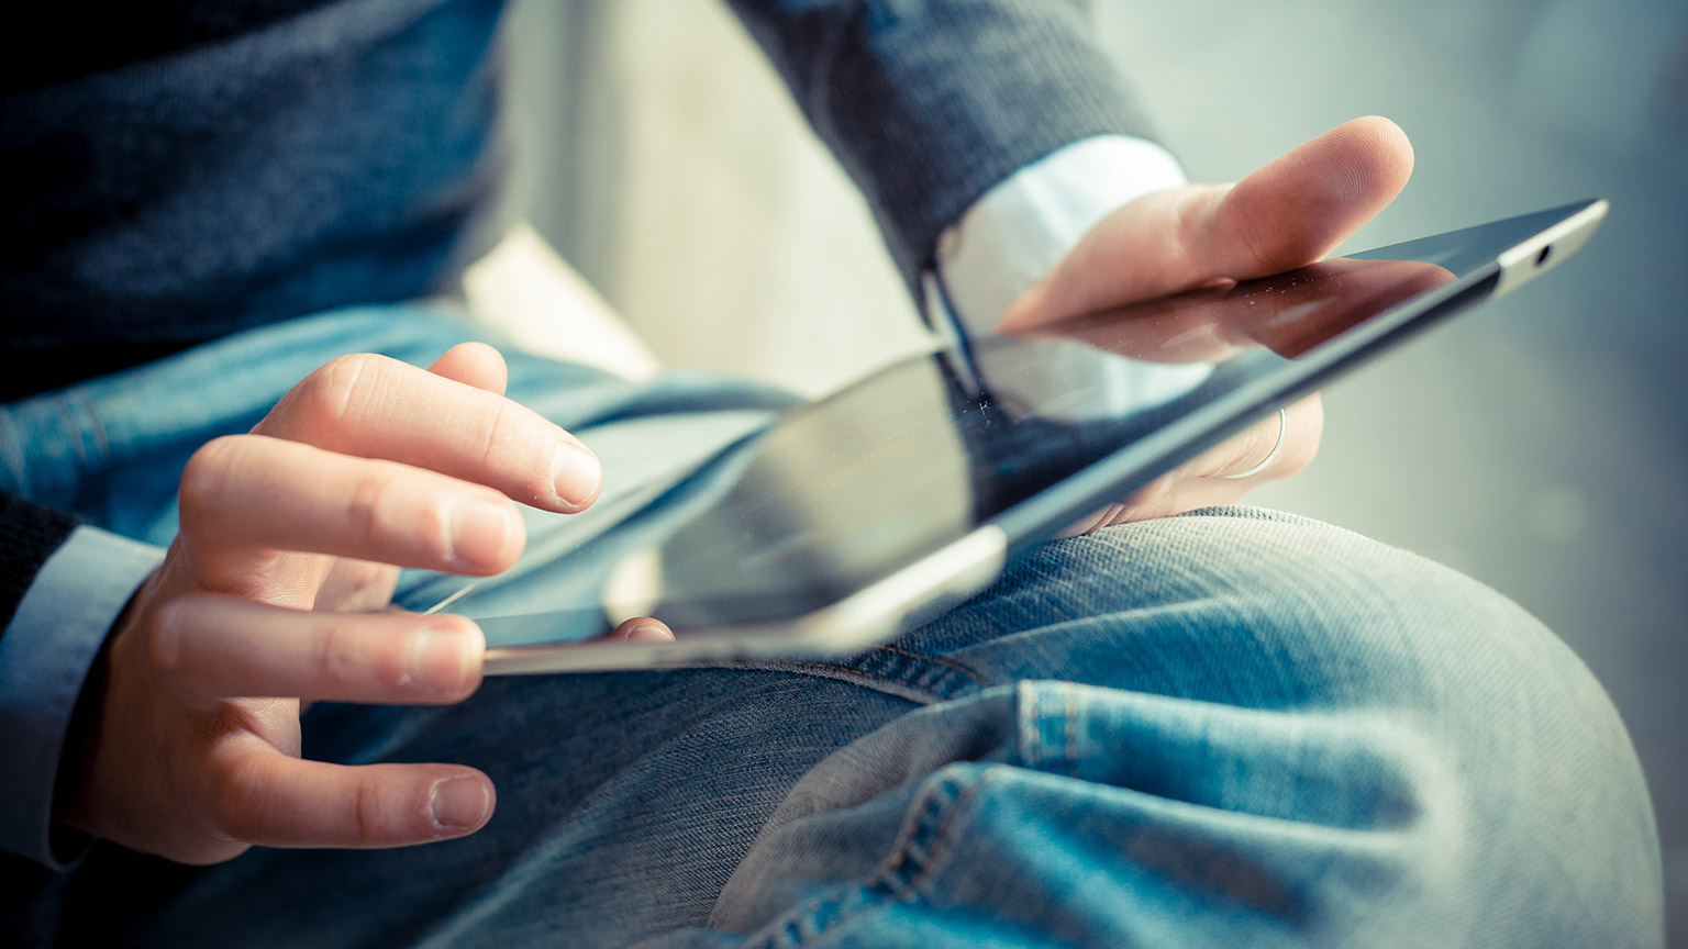
[[[525, 2], [518, 108], [562, 169], [535, 223], [667, 365], [820, 393], [925, 343], [866, 204], [724, 5]], [[559, 132], [533, 86], [577, 73]]]

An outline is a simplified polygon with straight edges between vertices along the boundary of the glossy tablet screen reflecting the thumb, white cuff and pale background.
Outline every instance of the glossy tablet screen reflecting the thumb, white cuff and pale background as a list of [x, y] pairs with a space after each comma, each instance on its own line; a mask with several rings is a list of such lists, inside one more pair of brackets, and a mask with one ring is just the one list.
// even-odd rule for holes
[[[1357, 328], [1389, 326], [1379, 317], [1404, 314], [1398, 304], [1487, 268], [1458, 290], [1480, 299], [1496, 253], [1550, 218], [1563, 213], [896, 363], [738, 447], [660, 542], [609, 571], [601, 625], [653, 615], [685, 635], [824, 608], [1041, 503], [1074, 473], [1193, 412], [1317, 361], [1322, 346]], [[1156, 473], [1126, 478], [1123, 490]]]

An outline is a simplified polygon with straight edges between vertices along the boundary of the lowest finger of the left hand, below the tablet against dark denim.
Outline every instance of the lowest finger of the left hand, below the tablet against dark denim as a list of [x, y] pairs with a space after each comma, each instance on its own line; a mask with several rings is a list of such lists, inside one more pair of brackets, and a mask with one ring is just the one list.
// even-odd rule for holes
[[218, 831], [277, 848], [392, 848], [481, 829], [493, 782], [459, 765], [331, 765], [255, 736], [219, 748], [209, 789]]

